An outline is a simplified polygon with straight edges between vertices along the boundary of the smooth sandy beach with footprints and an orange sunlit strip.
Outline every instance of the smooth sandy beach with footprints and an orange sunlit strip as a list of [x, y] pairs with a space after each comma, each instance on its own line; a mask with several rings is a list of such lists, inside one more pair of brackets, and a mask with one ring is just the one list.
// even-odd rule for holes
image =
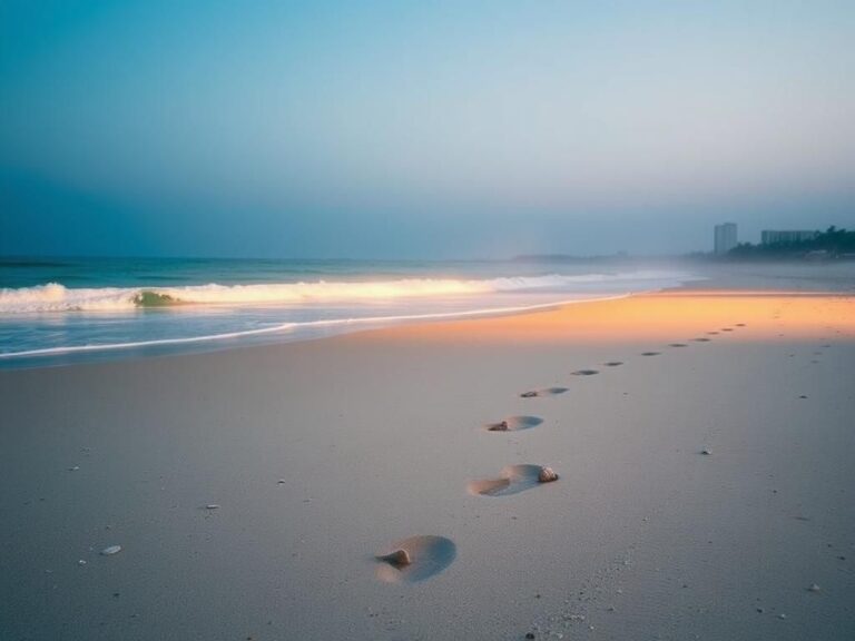
[[853, 638], [853, 381], [763, 292], [0, 372], [0, 639]]

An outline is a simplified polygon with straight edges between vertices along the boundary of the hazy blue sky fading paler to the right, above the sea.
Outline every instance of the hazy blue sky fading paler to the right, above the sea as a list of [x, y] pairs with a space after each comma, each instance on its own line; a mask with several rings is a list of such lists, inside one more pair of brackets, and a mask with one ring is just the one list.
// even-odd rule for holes
[[855, 2], [0, 2], [0, 255], [855, 227]]

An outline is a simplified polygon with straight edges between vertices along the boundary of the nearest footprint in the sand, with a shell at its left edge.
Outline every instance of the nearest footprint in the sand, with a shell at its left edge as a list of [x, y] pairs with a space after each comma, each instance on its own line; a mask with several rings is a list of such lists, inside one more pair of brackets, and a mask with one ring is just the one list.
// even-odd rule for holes
[[385, 583], [417, 583], [451, 565], [458, 546], [444, 536], [411, 536], [377, 554], [375, 575]]

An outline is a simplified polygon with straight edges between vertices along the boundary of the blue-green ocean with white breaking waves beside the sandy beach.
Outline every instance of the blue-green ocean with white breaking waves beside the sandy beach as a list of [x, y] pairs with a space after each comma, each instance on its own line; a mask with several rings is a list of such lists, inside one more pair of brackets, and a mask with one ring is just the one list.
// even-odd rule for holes
[[0, 258], [0, 367], [305, 341], [695, 279], [602, 260]]

